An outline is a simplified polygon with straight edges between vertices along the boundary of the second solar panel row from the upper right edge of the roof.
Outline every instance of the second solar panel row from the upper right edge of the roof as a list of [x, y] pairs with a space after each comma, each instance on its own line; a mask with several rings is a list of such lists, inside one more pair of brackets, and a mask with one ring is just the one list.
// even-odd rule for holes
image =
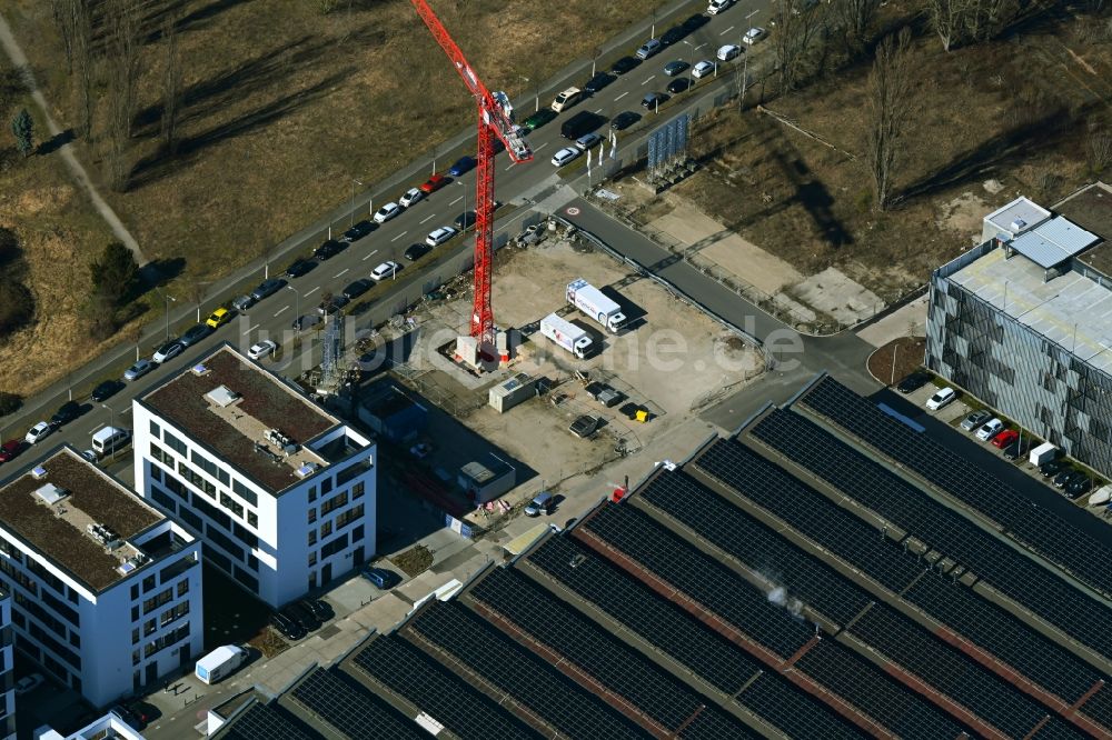
[[912, 532], [1048, 622], [1112, 658], [1112, 610], [1098, 603], [962, 514], [931, 499], [830, 432], [777, 410], [749, 434], [805, 470]]

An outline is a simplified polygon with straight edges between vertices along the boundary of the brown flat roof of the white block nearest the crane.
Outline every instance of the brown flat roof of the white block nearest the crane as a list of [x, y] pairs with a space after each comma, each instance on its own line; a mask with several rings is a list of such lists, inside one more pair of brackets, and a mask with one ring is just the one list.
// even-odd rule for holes
[[328, 464], [305, 443], [340, 424], [228, 344], [139, 400], [272, 493]]

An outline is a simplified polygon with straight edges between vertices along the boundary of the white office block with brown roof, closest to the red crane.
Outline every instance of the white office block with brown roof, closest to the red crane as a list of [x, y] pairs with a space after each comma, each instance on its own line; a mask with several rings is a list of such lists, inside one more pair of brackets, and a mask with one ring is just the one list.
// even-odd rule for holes
[[137, 398], [136, 490], [272, 607], [375, 553], [375, 446], [230, 344]]

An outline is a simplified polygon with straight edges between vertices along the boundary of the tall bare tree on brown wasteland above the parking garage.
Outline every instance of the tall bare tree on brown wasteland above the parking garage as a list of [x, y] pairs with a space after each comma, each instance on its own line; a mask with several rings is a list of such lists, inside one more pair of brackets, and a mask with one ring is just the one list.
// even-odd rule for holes
[[888, 207], [892, 182], [903, 150], [904, 129], [911, 117], [911, 29], [898, 38], [887, 36], [876, 48], [876, 58], [865, 91], [865, 160], [873, 176], [873, 198], [877, 209]]

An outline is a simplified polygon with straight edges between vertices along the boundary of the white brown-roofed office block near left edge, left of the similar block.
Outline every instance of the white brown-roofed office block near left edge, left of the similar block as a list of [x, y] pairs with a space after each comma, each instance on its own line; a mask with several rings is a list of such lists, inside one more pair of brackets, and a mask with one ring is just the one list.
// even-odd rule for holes
[[201, 653], [200, 542], [59, 448], [0, 486], [0, 584], [16, 648], [90, 703]]

